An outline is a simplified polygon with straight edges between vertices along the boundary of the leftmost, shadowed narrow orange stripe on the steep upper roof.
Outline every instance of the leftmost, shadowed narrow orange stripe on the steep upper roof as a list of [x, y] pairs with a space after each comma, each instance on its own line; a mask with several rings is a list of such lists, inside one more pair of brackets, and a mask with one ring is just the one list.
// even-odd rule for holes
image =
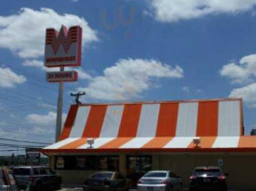
[[78, 109], [79, 107], [77, 105], [71, 105], [59, 140], [69, 137], [75, 118], [77, 116]]

